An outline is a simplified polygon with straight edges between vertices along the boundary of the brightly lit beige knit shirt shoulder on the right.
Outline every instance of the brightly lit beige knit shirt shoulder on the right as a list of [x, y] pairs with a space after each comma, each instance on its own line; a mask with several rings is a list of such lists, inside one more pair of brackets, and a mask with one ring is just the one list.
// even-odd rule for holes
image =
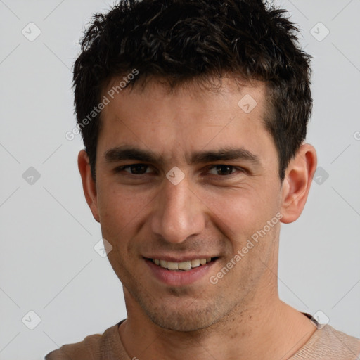
[[316, 330], [309, 341], [290, 360], [359, 360], [359, 354], [360, 339], [326, 325]]

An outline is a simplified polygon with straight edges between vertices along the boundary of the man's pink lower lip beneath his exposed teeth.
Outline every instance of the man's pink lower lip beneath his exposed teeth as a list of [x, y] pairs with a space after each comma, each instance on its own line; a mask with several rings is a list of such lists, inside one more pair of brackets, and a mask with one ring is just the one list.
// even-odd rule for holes
[[191, 270], [185, 271], [172, 271], [164, 269], [163, 267], [156, 265], [152, 260], [145, 259], [146, 264], [148, 264], [150, 270], [158, 280], [162, 283], [172, 286], [182, 286], [190, 285], [198, 281], [200, 278], [203, 278], [206, 274], [210, 272], [214, 264], [218, 259], [212, 260], [205, 265], [200, 265]]

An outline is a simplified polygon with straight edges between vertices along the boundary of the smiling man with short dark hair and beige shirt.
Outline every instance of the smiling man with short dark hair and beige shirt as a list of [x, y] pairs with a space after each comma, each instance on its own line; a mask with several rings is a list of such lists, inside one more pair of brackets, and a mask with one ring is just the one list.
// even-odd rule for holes
[[360, 340], [278, 298], [280, 224], [316, 151], [310, 56], [260, 0], [120, 1], [74, 69], [86, 201], [127, 319], [55, 359], [356, 359]]

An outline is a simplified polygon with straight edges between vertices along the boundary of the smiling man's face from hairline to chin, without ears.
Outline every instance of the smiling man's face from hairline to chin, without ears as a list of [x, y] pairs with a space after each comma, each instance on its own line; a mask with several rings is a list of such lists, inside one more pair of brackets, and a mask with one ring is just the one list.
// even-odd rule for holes
[[[253, 101], [240, 101], [246, 94], [252, 110]], [[264, 277], [278, 241], [281, 183], [264, 94], [260, 82], [238, 87], [233, 79], [219, 91], [193, 84], [170, 93], [150, 82], [103, 110], [91, 210], [113, 247], [108, 259], [127, 305], [162, 328], [206, 328], [245, 310], [273, 281]], [[186, 267], [207, 258], [187, 271], [150, 260]]]

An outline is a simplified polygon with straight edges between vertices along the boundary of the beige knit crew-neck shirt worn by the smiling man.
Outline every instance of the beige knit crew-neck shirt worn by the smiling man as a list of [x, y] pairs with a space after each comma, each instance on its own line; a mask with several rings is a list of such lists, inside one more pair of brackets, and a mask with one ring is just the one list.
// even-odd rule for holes
[[[132, 360], [120, 340], [118, 328], [123, 321], [105, 330], [103, 335], [89, 335], [82, 342], [63, 345], [47, 354], [45, 360]], [[322, 328], [317, 325], [307, 343], [288, 360], [360, 360], [360, 339], [329, 325]]]

